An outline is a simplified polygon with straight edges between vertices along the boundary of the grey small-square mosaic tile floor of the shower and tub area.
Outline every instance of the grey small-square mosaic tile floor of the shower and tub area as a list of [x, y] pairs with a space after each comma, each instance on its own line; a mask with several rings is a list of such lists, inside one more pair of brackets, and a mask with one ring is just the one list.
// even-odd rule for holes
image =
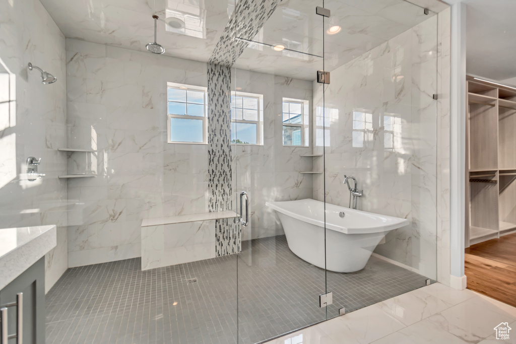
[[[237, 291], [240, 344], [326, 319], [318, 307], [325, 271], [294, 255], [285, 236], [244, 241], [236, 257], [146, 271], [140, 258], [68, 269], [46, 295], [46, 344], [234, 344]], [[350, 312], [426, 281], [375, 257], [361, 271], [326, 274], [333, 291], [328, 318], [342, 306]]]

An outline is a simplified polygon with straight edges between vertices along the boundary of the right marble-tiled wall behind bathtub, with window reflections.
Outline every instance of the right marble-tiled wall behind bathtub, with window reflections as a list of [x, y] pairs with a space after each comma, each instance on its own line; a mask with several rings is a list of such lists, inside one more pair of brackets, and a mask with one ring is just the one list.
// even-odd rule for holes
[[[344, 175], [363, 189], [359, 209], [406, 218], [375, 252], [437, 278], [438, 19], [434, 16], [332, 71], [316, 105], [316, 152], [326, 177], [315, 199], [349, 205]], [[314, 84], [314, 100], [322, 101]], [[321, 104], [318, 101], [315, 104]], [[323, 132], [322, 130], [326, 131]], [[324, 136], [323, 136], [324, 134]], [[323, 166], [325, 163], [325, 166]], [[325, 183], [325, 185], [322, 185]]]

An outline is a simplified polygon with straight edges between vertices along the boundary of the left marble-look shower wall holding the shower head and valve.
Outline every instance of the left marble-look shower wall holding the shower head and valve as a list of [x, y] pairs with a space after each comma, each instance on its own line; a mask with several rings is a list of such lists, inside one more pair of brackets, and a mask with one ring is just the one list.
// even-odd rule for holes
[[[3, 228], [57, 225], [57, 247], [45, 256], [45, 289], [68, 268], [65, 37], [38, 0], [0, 2], [0, 223]], [[57, 77], [41, 83], [40, 73]], [[10, 92], [9, 92], [10, 89]], [[23, 173], [41, 158], [42, 180]]]

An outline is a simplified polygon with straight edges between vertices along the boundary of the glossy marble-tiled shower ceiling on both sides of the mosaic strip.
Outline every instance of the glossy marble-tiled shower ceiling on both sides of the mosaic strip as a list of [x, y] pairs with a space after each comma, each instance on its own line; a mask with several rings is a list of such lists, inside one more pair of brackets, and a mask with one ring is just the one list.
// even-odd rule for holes
[[[145, 45], [153, 41], [152, 14], [162, 19], [181, 17], [188, 32], [167, 29], [165, 22], [159, 21], [157, 42], [166, 48], [165, 55], [202, 62], [212, 56], [233, 13], [234, 1], [41, 0], [67, 38], [139, 51], [146, 51]], [[322, 55], [323, 38], [325, 69], [331, 71], [429, 18], [421, 7], [404, 0], [326, 0], [325, 7], [332, 13], [323, 26], [322, 17], [315, 14], [316, 6], [322, 6], [322, 0], [281, 1], [253, 39], [281, 43], [301, 53], [250, 44], [236, 67], [313, 80], [314, 71], [322, 69], [318, 56]], [[246, 18], [239, 20], [246, 22]], [[342, 30], [327, 35], [325, 30], [332, 25]]]

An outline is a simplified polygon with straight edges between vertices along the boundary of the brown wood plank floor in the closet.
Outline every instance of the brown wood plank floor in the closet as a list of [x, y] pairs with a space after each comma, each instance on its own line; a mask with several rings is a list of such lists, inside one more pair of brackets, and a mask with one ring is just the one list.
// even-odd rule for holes
[[471, 245], [464, 269], [467, 289], [516, 307], [516, 233]]

